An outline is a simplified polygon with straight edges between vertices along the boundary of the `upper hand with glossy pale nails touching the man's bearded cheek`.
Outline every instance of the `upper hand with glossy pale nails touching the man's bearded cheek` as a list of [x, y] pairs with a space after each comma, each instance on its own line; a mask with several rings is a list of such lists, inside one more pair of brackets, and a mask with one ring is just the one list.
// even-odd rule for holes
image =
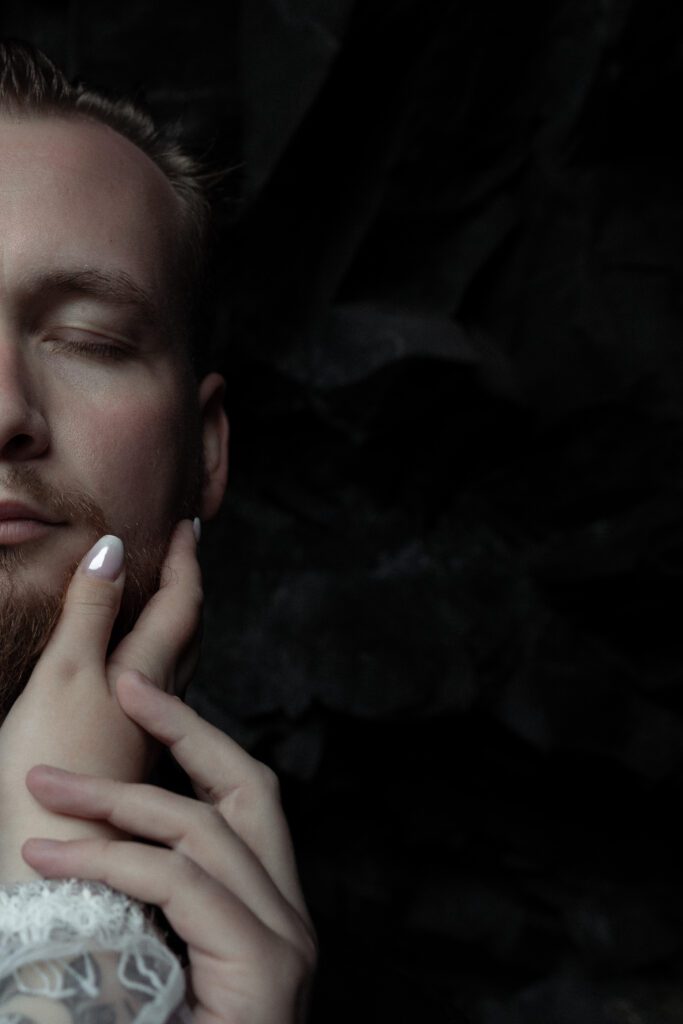
[[34, 877], [19, 848], [37, 830], [63, 839], [120, 835], [101, 823], [48, 814], [28, 792], [26, 774], [40, 761], [141, 781], [159, 744], [124, 714], [117, 680], [134, 669], [163, 690], [183, 692], [196, 663], [202, 587], [191, 523], [176, 527], [159, 590], [109, 656], [125, 580], [117, 571], [116, 538], [108, 551], [102, 555], [100, 543], [93, 568], [95, 549], [76, 570], [57, 625], [0, 727], [0, 883]]

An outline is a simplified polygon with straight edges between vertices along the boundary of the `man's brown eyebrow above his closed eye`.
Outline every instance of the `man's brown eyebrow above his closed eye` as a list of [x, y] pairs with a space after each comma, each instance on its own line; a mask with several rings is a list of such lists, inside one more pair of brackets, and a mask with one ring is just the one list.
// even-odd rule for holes
[[141, 325], [158, 330], [170, 327], [152, 294], [125, 270], [93, 267], [48, 270], [26, 281], [24, 291], [33, 296], [84, 295], [106, 305], [131, 309]]

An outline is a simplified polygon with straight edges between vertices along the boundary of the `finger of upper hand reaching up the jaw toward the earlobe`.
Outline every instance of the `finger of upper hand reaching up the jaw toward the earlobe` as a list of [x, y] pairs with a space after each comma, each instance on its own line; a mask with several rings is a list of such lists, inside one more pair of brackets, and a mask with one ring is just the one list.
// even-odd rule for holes
[[135, 669], [157, 686], [182, 689], [199, 653], [202, 573], [188, 519], [176, 526], [161, 572], [161, 584], [134, 629], [110, 657], [114, 671]]

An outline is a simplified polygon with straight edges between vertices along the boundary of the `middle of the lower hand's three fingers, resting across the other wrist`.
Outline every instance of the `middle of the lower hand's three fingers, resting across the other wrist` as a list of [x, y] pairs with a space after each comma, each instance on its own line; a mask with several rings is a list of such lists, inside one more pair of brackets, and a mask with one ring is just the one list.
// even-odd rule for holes
[[127, 784], [38, 765], [27, 785], [48, 810], [108, 821], [122, 833], [164, 843], [229, 889], [272, 932], [292, 941], [292, 908], [260, 861], [212, 806], [156, 786]]

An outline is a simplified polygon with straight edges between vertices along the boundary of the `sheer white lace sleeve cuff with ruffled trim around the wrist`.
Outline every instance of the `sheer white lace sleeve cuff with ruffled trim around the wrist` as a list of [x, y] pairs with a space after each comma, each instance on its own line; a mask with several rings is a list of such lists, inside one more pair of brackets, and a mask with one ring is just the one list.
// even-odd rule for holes
[[75, 879], [0, 887], [0, 1024], [190, 1024], [142, 904]]

